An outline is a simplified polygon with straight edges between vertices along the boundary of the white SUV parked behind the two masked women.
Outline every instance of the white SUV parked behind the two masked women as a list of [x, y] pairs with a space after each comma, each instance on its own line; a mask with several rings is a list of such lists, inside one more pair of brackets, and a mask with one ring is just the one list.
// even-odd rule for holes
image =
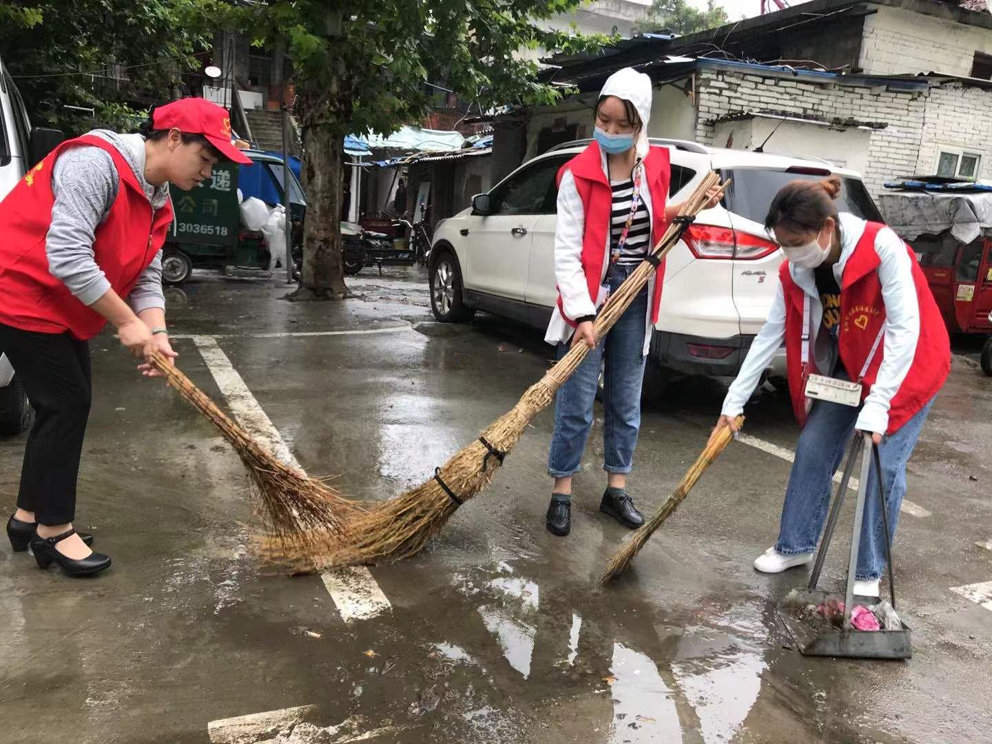
[[[466, 320], [486, 310], [542, 329], [548, 324], [558, 297], [555, 177], [589, 142], [558, 145], [438, 223], [429, 264], [438, 320]], [[651, 144], [670, 151], [673, 202], [685, 198], [707, 171], [731, 180], [723, 202], [700, 212], [669, 253], [651, 358], [680, 372], [736, 375], [775, 295], [782, 253], [764, 219], [776, 191], [795, 179], [836, 175], [843, 183], [840, 210], [865, 219], [881, 216], [858, 174], [823, 160], [681, 140], [652, 138]], [[781, 376], [784, 370], [783, 352], [770, 373]]]

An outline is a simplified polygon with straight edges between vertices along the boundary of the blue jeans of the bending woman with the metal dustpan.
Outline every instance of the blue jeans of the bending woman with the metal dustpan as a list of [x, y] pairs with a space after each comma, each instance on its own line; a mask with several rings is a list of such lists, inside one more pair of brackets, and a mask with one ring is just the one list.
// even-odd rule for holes
[[[882, 482], [889, 507], [891, 540], [895, 540], [899, 508], [906, 495], [906, 463], [913, 454], [932, 405], [933, 401], [930, 400], [899, 431], [883, 439], [878, 448], [882, 461]], [[830, 500], [830, 479], [840, 466], [859, 411], [859, 408], [836, 403], [813, 403], [806, 427], [796, 445], [796, 461], [789, 476], [786, 503], [782, 508], [779, 541], [775, 544], [775, 550], [779, 553], [795, 556], [815, 550]], [[855, 465], [854, 477], [857, 478], [859, 473], [860, 461]], [[875, 463], [872, 462], [855, 577], [876, 579], [882, 575], [883, 570], [885, 536], [882, 533], [878, 476], [875, 475]]]

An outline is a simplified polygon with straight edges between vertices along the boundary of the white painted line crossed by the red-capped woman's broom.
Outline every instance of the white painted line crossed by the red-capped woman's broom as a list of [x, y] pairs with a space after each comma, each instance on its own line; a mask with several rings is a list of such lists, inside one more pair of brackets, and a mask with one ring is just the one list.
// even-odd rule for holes
[[[217, 339], [212, 336], [194, 336], [193, 340], [238, 424], [280, 460], [303, 471], [304, 468], [290, 451], [282, 434], [279, 434], [279, 430], [273, 426], [255, 396], [248, 390]], [[367, 620], [391, 607], [386, 595], [365, 566], [322, 571], [320, 578], [345, 622]]]

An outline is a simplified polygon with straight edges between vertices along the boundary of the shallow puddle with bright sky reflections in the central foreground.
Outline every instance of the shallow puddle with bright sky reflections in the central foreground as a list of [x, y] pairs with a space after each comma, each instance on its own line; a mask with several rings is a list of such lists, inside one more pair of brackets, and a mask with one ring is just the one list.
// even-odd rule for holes
[[[747, 594], [733, 603], [700, 599], [698, 607], [682, 609], [682, 621], [659, 618], [650, 606], [628, 606], [617, 615], [603, 612], [602, 597], [577, 598], [568, 606], [571, 600], [542, 592], [516, 563], [503, 559], [488, 570], [454, 577], [457, 592], [475, 604], [489, 642], [483, 638], [463, 648], [452, 640], [434, 644], [434, 652], [480, 670], [497, 686], [523, 682], [539, 710], [558, 708], [570, 697], [609, 704], [608, 698], [609, 721], [596, 718], [595, 706], [579, 705], [593, 716], [589, 742], [681, 744], [685, 736], [686, 741], [727, 744], [743, 731], [760, 736], [765, 723], [785, 725], [797, 741], [808, 731], [822, 732], [823, 726], [838, 735], [837, 741], [862, 740], [865, 731], [854, 725], [857, 710], [843, 702], [824, 709], [823, 690], [810, 676], [796, 678], [792, 664], [778, 663], [791, 652], [779, 648], [774, 611], [764, 599]], [[493, 651], [501, 662], [493, 661]], [[764, 677], [773, 666], [781, 667], [781, 679], [773, 678], [777, 682], [765, 690], [762, 712], [756, 714]], [[780, 699], [783, 694], [792, 701]], [[793, 699], [797, 694], [805, 695], [806, 703]], [[770, 709], [775, 715], [767, 716]], [[855, 733], [856, 728], [861, 730]]]

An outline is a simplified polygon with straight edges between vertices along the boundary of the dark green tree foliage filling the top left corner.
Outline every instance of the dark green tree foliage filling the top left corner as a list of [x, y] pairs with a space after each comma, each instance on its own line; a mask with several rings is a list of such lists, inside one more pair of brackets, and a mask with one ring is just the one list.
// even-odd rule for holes
[[220, 0], [0, 0], [0, 59], [37, 125], [127, 129], [144, 114], [129, 105], [136, 95], [171, 100], [234, 11]]

